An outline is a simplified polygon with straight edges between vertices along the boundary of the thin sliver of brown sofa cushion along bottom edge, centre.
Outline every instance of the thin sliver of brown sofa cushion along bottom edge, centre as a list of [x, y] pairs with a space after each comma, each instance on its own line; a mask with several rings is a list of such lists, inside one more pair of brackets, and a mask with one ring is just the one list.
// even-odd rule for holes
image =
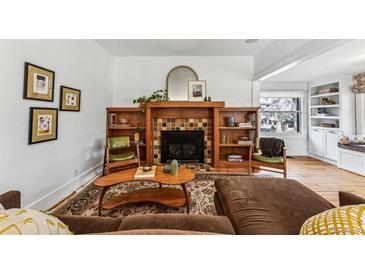
[[218, 233], [198, 232], [179, 229], [134, 229], [95, 233], [94, 235], [217, 235]]

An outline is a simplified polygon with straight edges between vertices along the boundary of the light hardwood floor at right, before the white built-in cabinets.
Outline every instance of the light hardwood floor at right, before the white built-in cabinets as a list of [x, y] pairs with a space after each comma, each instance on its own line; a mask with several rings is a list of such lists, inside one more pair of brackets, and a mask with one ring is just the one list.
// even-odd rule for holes
[[[279, 174], [261, 171], [260, 174]], [[310, 157], [288, 158], [288, 178], [296, 179], [319, 195], [338, 205], [338, 191], [365, 197], [365, 177]]]

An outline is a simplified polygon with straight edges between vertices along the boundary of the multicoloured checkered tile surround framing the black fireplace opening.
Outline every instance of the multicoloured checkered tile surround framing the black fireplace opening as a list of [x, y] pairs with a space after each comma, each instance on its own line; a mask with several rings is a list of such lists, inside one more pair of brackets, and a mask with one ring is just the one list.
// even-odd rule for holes
[[161, 163], [161, 130], [203, 130], [204, 163], [212, 163], [212, 119], [157, 118], [153, 119], [153, 161]]

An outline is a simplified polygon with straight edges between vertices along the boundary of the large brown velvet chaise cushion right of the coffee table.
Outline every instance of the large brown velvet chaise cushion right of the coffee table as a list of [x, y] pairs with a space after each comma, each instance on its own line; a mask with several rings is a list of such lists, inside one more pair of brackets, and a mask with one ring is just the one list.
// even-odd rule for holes
[[226, 177], [215, 187], [237, 234], [299, 234], [305, 220], [334, 207], [291, 179]]

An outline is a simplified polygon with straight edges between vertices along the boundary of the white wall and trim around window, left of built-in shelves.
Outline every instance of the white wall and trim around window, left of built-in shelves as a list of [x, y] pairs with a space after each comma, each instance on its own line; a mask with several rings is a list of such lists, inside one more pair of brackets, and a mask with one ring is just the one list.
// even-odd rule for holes
[[266, 137], [277, 137], [284, 140], [287, 147], [289, 156], [305, 156], [308, 155], [307, 149], [307, 90], [308, 84], [305, 82], [261, 82], [260, 93], [261, 94], [273, 94], [273, 96], [303, 96], [303, 109], [302, 109], [302, 131], [298, 134], [285, 134], [285, 133], [261, 133]]

